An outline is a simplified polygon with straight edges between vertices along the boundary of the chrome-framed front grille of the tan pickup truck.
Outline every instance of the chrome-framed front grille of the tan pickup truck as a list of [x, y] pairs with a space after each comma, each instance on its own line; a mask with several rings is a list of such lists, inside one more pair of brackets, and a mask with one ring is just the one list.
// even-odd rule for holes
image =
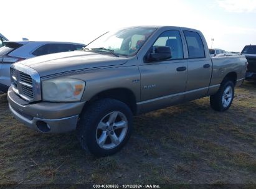
[[11, 65], [11, 86], [14, 93], [26, 101], [41, 99], [40, 76], [36, 70], [24, 65]]

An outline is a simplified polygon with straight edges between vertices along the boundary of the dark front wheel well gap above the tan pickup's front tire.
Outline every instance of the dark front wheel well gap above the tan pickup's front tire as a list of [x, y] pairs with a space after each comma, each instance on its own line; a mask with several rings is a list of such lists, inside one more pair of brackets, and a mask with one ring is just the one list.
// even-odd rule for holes
[[126, 88], [115, 88], [107, 91], [102, 91], [96, 94], [95, 96], [93, 96], [93, 98], [91, 98], [88, 103], [92, 103], [97, 99], [103, 99], [103, 98], [117, 99], [125, 103], [127, 106], [129, 106], [132, 113], [136, 114], [136, 98], [135, 98], [135, 94], [133, 94], [131, 90], [128, 90]]

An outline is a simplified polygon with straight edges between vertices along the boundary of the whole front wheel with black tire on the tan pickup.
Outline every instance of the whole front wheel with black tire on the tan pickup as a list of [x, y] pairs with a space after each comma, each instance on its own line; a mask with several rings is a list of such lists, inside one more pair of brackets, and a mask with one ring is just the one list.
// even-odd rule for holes
[[116, 99], [100, 99], [83, 111], [77, 136], [83, 149], [97, 157], [118, 152], [131, 135], [130, 108]]

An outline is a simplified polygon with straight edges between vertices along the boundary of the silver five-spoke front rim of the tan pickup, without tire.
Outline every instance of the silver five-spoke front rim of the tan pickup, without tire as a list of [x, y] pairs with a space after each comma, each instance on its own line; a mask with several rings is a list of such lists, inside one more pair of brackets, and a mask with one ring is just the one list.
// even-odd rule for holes
[[105, 150], [117, 147], [125, 139], [128, 121], [125, 114], [113, 111], [102, 118], [96, 130], [96, 141]]

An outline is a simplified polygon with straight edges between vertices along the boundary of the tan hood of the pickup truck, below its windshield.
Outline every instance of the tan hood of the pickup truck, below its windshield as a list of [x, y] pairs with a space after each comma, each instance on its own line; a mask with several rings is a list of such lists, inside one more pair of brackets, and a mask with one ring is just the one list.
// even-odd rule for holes
[[66, 71], [121, 65], [126, 63], [127, 60], [128, 58], [126, 57], [75, 51], [44, 55], [17, 63], [33, 68], [43, 77]]

